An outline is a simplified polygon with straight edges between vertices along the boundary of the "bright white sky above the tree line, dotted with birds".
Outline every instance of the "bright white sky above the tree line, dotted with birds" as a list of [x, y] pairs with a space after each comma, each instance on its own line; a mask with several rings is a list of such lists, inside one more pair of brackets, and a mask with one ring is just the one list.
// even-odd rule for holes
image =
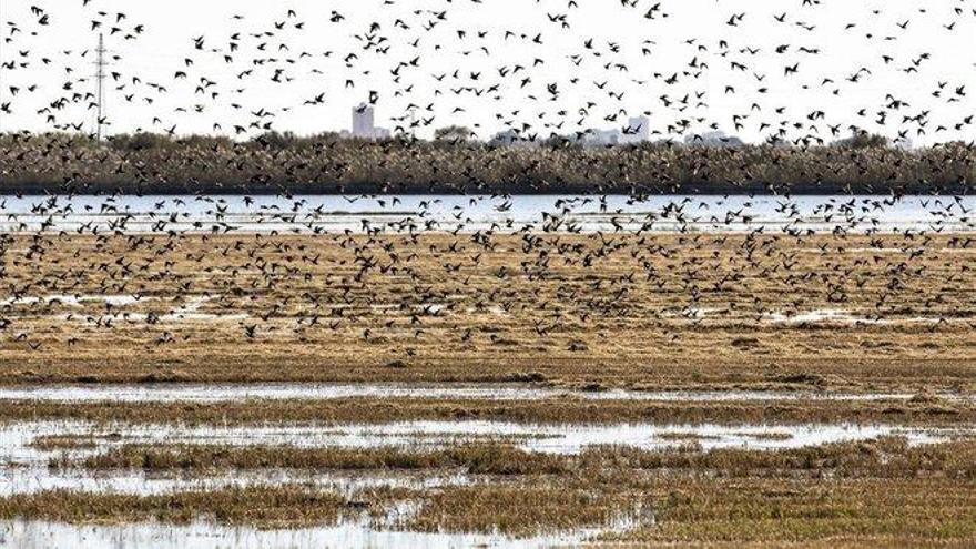
[[[82, 95], [94, 91], [92, 50], [103, 31], [118, 57], [109, 68], [119, 74], [108, 85], [110, 133], [173, 126], [176, 134], [234, 133], [241, 125], [251, 135], [256, 130], [248, 124], [255, 121], [299, 134], [342, 130], [350, 125], [350, 109], [375, 92], [378, 124], [394, 128], [398, 122], [393, 118], [418, 105], [418, 120], [433, 118], [417, 132], [423, 136], [455, 123], [476, 128], [481, 136], [506, 124], [529, 124], [528, 132], [540, 136], [560, 123], [561, 133], [620, 129], [628, 115], [647, 111], [661, 134], [673, 134], [674, 124], [688, 120], [694, 131], [714, 122], [749, 141], [782, 124], [793, 139], [813, 134], [831, 141], [830, 126], [840, 125], [846, 135], [852, 124], [892, 138], [906, 131], [916, 144], [976, 138], [976, 125], [964, 123], [976, 112], [976, 0], [813, 0], [810, 6], [803, 0], [661, 0], [654, 19], [644, 13], [658, 0], [576, 3], [91, 0], [82, 7], [82, 0], [2, 0], [0, 103], [10, 103], [12, 113], [0, 113], [0, 130], [84, 123], [91, 131], [92, 100], [72, 102], [64, 88], [70, 84]], [[43, 14], [32, 13], [32, 6]], [[288, 17], [289, 9], [297, 17]], [[122, 31], [110, 37], [119, 11], [126, 14], [118, 23]], [[331, 21], [333, 11], [344, 19]], [[744, 17], [736, 27], [726, 24], [740, 13]], [[784, 22], [774, 19], [783, 13]], [[40, 26], [44, 14], [49, 24]], [[569, 28], [550, 14], [566, 14]], [[104, 24], [93, 31], [93, 20]], [[905, 28], [898, 26], [905, 21]], [[298, 22], [303, 28], [295, 28]], [[275, 23], [284, 24], [278, 29]], [[848, 29], [848, 23], [855, 27]], [[125, 40], [138, 24], [144, 32]], [[462, 39], [459, 31], [466, 33]], [[505, 39], [506, 31], [515, 37]], [[240, 35], [232, 40], [235, 33]], [[532, 41], [537, 34], [541, 43]], [[194, 47], [199, 37], [202, 49]], [[590, 39], [592, 47], [587, 48]], [[236, 51], [231, 51], [232, 43]], [[784, 52], [776, 51], [787, 44]], [[802, 52], [801, 47], [819, 53]], [[921, 59], [924, 53], [928, 59]], [[187, 67], [185, 59], [193, 64]], [[415, 59], [416, 65], [401, 67], [398, 78], [390, 72]], [[746, 69], [734, 70], [732, 62]], [[797, 73], [784, 75], [784, 68], [794, 63]], [[525, 69], [512, 75], [516, 65]], [[856, 82], [847, 80], [862, 68], [871, 72], [861, 72]], [[906, 68], [917, 72], [906, 73]], [[187, 78], [174, 79], [176, 71]], [[271, 80], [276, 71], [282, 71], [282, 82]], [[665, 82], [675, 73], [675, 81]], [[435, 79], [443, 74], [441, 81]], [[523, 85], [526, 78], [530, 81]], [[833, 82], [824, 84], [824, 79]], [[197, 91], [202, 82], [211, 83], [206, 94]], [[597, 85], [604, 82], [602, 89]], [[31, 85], [34, 91], [28, 90]], [[936, 91], [941, 96], [933, 95]], [[303, 105], [321, 93], [323, 104]], [[49, 112], [38, 113], [65, 94], [64, 108], [50, 112], [53, 123]], [[893, 99], [905, 105], [895, 109]], [[761, 110], [751, 109], [753, 103]], [[774, 112], [777, 108], [782, 114]], [[884, 124], [877, 123], [882, 111]], [[925, 115], [925, 135], [918, 135], [918, 123], [904, 122], [904, 116], [919, 114]], [[746, 116], [738, 131], [734, 116]], [[772, 129], [760, 132], [763, 123]], [[963, 124], [960, 131], [956, 124]], [[947, 131], [936, 132], [939, 125]]]

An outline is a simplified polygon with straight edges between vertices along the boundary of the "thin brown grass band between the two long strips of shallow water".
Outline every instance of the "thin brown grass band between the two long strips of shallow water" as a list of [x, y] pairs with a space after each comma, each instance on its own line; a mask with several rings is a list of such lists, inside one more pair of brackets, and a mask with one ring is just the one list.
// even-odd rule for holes
[[342, 398], [232, 403], [0, 401], [0, 421], [77, 419], [96, 424], [265, 425], [385, 424], [415, 419], [499, 420], [522, 424], [810, 424], [889, 423], [972, 425], [972, 403], [875, 400], [467, 400]]

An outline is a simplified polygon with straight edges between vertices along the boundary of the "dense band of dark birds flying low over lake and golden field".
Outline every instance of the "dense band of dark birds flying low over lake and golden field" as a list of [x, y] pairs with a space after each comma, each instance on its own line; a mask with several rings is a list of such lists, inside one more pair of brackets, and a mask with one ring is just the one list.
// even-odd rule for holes
[[[682, 323], [706, 321], [704, 311], [713, 312], [711, 321], [762, 322], [853, 307], [866, 323], [924, 315], [933, 331], [972, 318], [959, 305], [976, 279], [974, 203], [963, 197], [918, 199], [908, 211], [936, 221], [891, 231], [874, 222], [907, 199], [813, 199], [812, 212], [810, 203], [802, 211], [780, 199], [766, 212], [780, 220], [777, 230], [743, 214], [766, 207], [758, 204], [763, 199], [683, 197], [636, 214], [626, 211], [640, 205], [633, 200], [565, 197], [538, 223], [515, 223], [507, 213], [523, 199], [447, 206], [436, 196], [409, 205], [374, 197], [373, 217], [364, 212], [360, 226], [342, 230], [326, 228], [335, 205], [309, 197], [245, 196], [243, 210], [222, 197], [146, 200], [146, 211], [133, 211], [125, 196], [24, 199], [29, 212], [8, 214], [10, 223], [31, 224], [0, 237], [8, 296], [0, 299], [0, 340], [41, 350], [63, 337], [74, 345], [87, 331], [115, 331], [164, 345], [199, 335], [187, 319], [211, 319], [232, 323], [245, 340], [292, 334], [323, 342], [352, 331], [375, 343], [409, 334], [405, 352], [414, 357], [419, 345], [451, 340], [510, 345], [506, 331], [491, 328], [497, 315], [515, 333], [542, 340], [633, 322], [677, 338]], [[377, 215], [405, 207], [417, 210], [401, 220]], [[501, 218], [479, 217], [476, 207]], [[719, 221], [713, 209], [752, 224], [739, 235], [694, 232], [698, 223]], [[573, 236], [567, 224], [582, 211], [612, 228]], [[807, 216], [833, 228], [803, 228]], [[634, 220], [651, 227], [624, 226]], [[960, 220], [968, 231], [957, 228]], [[662, 222], [679, 228], [660, 237], [653, 225]], [[946, 226], [957, 232], [939, 235]], [[850, 253], [857, 246], [864, 250]], [[454, 328], [444, 334], [445, 326]]]

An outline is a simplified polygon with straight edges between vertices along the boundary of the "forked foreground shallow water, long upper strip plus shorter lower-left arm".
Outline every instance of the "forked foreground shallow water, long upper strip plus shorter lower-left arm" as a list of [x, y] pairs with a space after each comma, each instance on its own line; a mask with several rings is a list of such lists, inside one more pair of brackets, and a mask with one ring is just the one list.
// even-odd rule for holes
[[[903, 436], [912, 445], [974, 436], [976, 428], [914, 428], [894, 425], [522, 425], [504, 421], [403, 421], [375, 426], [126, 426], [99, 427], [80, 421], [29, 421], [0, 426], [0, 495], [44, 489], [92, 492], [162, 494], [182, 489], [226, 486], [302, 484], [352, 497], [375, 487], [424, 489], [467, 485], [464, 471], [256, 471], [184, 475], [181, 471], [85, 471], [48, 467], [50, 459], [81, 459], [124, 444], [293, 446], [409, 449], [437, 448], [462, 443], [506, 443], [528, 451], [578, 454], [594, 446], [626, 446], [645, 450], [694, 443], [702, 450], [716, 448], [784, 449], [828, 443]], [[90, 447], [44, 450], [32, 446], [43, 436], [83, 437]]]

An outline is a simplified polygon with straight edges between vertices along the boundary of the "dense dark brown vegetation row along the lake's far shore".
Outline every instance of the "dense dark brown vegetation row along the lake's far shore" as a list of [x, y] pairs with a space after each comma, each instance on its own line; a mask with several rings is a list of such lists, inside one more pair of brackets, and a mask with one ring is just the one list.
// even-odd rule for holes
[[335, 134], [226, 138], [0, 135], [0, 193], [148, 194], [936, 194], [968, 193], [976, 148], [843, 143], [583, 148]]

